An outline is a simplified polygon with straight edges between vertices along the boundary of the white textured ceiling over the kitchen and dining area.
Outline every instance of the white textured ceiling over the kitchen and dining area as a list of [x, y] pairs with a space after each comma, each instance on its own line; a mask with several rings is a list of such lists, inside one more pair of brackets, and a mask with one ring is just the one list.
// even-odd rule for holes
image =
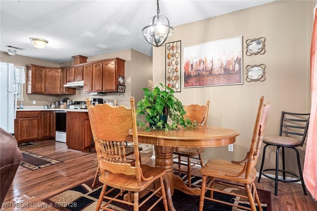
[[[172, 26], [237, 11], [273, 0], [160, 0], [160, 14]], [[156, 15], [156, 0], [0, 0], [0, 51], [64, 62], [73, 55], [94, 56], [134, 49], [152, 56], [142, 35]], [[29, 38], [49, 41], [35, 49]]]

